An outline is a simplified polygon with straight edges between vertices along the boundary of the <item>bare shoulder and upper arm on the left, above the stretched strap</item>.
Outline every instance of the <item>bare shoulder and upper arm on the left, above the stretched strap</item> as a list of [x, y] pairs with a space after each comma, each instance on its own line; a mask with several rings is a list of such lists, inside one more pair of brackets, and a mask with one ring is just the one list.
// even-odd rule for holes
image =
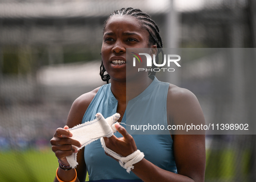
[[95, 88], [93, 91], [82, 94], [73, 102], [67, 119], [67, 126], [69, 128], [81, 124], [85, 111], [99, 89], [100, 87]]

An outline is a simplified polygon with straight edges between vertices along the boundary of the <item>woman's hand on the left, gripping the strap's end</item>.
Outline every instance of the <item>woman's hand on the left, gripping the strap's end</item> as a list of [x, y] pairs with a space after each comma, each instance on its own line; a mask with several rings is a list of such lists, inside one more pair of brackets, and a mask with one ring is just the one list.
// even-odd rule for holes
[[69, 138], [72, 136], [72, 133], [68, 130], [68, 126], [65, 126], [64, 128], [56, 129], [56, 132], [51, 139], [52, 151], [61, 163], [65, 165], [69, 165], [66, 157], [70, 156], [72, 153], [78, 152], [78, 150], [75, 147], [72, 147], [72, 145], [81, 147], [79, 141]]

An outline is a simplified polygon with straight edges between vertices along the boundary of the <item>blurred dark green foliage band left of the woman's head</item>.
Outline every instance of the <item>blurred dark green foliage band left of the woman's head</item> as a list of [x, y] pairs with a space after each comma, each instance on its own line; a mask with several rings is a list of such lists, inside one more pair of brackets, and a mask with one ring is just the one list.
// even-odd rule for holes
[[[55, 47], [53, 46], [52, 48], [54, 49]], [[26, 75], [36, 73], [41, 66], [49, 64], [76, 63], [101, 59], [100, 46], [94, 48], [84, 45], [69, 45], [58, 47], [58, 49], [60, 52], [54, 52], [51, 50], [51, 47], [47, 46], [3, 47], [2, 73]]]

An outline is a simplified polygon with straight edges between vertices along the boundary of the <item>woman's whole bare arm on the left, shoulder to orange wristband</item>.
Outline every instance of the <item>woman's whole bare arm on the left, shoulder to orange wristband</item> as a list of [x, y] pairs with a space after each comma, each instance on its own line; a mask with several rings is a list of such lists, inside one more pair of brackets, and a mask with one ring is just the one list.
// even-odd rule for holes
[[[71, 109], [68, 114], [67, 126], [63, 129], [58, 128], [54, 134], [54, 137], [51, 140], [52, 151], [55, 152], [56, 157], [65, 165], [68, 165], [68, 161], [66, 160], [66, 156], [72, 154], [72, 152], [76, 152], [76, 149], [72, 147], [75, 145], [77, 147], [81, 147], [81, 144], [73, 140], [71, 138], [63, 138], [62, 135], [67, 137], [71, 137], [72, 134], [67, 130], [68, 128], [72, 128], [78, 124], [81, 124], [85, 111], [87, 107], [91, 103], [91, 100], [94, 98], [99, 88], [94, 91], [88, 92], [86, 94], [78, 97], [71, 106]], [[76, 182], [84, 182], [86, 177], [86, 164], [84, 162], [84, 148], [78, 151], [77, 154], [78, 166], [76, 167], [78, 179]], [[65, 171], [63, 169], [58, 169], [58, 177], [62, 181], [71, 181], [75, 179], [75, 169], [70, 169]], [[58, 182], [55, 177], [54, 182]]]

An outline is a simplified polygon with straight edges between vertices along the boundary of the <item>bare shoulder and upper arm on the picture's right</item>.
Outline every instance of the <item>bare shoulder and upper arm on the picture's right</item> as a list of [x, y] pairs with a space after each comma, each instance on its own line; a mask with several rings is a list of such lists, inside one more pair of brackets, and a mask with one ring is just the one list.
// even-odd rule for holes
[[[173, 124], [205, 124], [203, 111], [196, 96], [187, 89], [171, 86], [169, 97], [170, 119]], [[178, 174], [194, 182], [204, 182], [205, 135], [204, 131], [191, 131], [193, 135], [173, 135], [173, 149]], [[195, 135], [196, 134], [196, 135]]]

